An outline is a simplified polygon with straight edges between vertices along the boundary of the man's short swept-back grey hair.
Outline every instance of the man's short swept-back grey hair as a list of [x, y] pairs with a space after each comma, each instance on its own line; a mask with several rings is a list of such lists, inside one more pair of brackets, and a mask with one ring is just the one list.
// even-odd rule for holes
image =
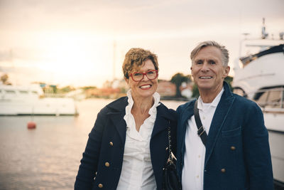
[[199, 43], [190, 53], [190, 58], [192, 60], [193, 63], [193, 59], [195, 58], [195, 56], [197, 55], [198, 52], [200, 52], [200, 50], [202, 48], [205, 48], [207, 46], [214, 46], [216, 48], [218, 48], [221, 53], [222, 53], [222, 63], [223, 66], [228, 66], [229, 63], [229, 51], [226, 49], [225, 46], [220, 45], [219, 43], [217, 43], [216, 41], [203, 41], [201, 43]]

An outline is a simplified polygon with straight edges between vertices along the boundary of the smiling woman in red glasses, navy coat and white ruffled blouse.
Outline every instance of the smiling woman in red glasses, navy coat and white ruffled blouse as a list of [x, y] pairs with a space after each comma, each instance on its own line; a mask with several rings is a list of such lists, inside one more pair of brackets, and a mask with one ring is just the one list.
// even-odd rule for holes
[[176, 118], [156, 93], [158, 59], [150, 51], [131, 48], [122, 68], [130, 90], [97, 115], [75, 189], [162, 189], [168, 127], [175, 148]]

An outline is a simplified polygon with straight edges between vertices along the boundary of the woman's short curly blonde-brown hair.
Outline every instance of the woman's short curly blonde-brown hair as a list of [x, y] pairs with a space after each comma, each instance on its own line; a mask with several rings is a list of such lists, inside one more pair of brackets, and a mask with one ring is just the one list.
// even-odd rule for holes
[[143, 48], [131, 48], [126, 53], [124, 64], [122, 65], [124, 77], [128, 79], [131, 71], [137, 70], [139, 67], [143, 66], [144, 62], [148, 59], [152, 60], [155, 70], [159, 70], [157, 55], [151, 53], [151, 51], [144, 50]]

